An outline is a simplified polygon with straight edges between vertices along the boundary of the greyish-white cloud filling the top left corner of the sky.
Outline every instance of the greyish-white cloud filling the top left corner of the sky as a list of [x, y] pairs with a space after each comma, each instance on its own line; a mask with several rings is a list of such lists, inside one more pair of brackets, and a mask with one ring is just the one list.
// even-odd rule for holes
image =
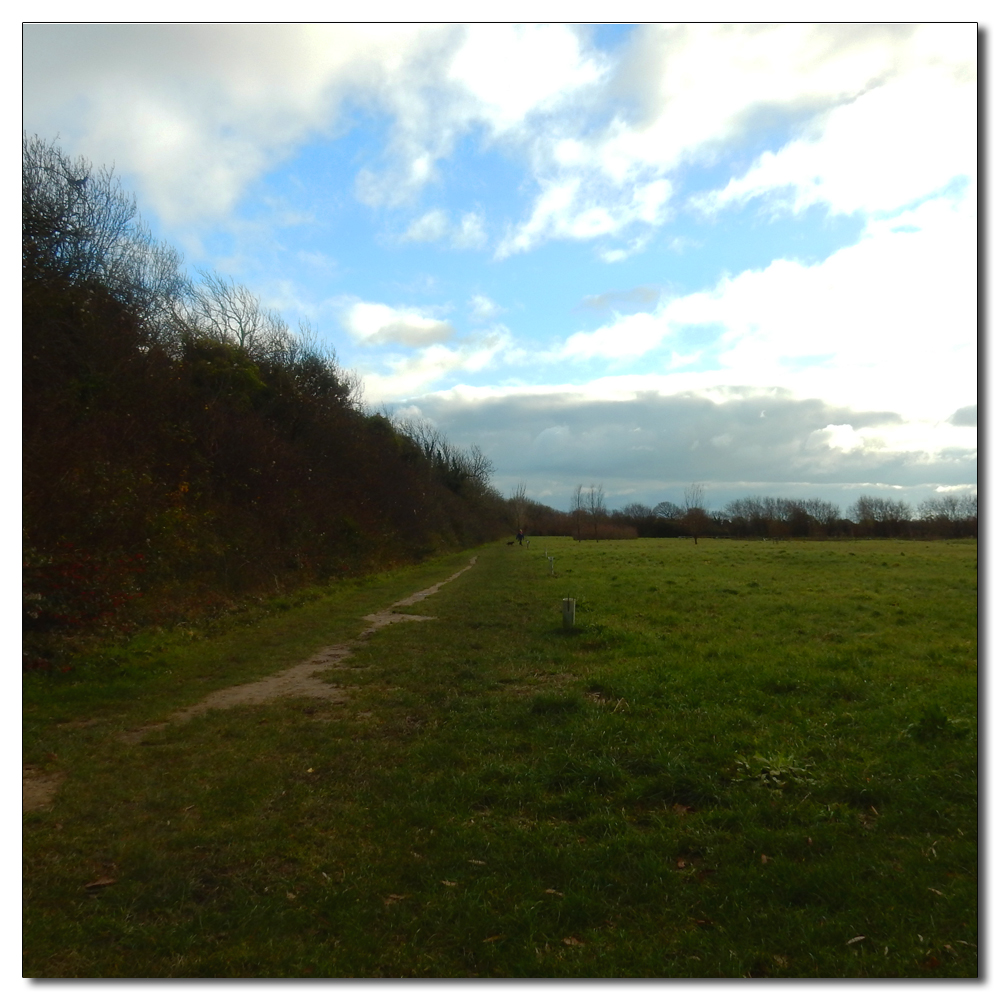
[[25, 127], [114, 162], [168, 222], [218, 219], [407, 44], [351, 25], [29, 25]]

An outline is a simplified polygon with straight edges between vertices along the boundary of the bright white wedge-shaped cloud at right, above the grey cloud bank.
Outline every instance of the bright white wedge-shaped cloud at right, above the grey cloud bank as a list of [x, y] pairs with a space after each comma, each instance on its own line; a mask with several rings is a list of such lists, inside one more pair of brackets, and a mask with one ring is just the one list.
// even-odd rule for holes
[[[666, 352], [661, 370], [784, 385], [943, 420], [976, 392], [976, 220], [968, 193], [875, 220], [817, 264], [776, 260], [573, 334], [565, 360]], [[691, 348], [692, 331], [715, 331]], [[889, 374], [891, 373], [891, 374]]]

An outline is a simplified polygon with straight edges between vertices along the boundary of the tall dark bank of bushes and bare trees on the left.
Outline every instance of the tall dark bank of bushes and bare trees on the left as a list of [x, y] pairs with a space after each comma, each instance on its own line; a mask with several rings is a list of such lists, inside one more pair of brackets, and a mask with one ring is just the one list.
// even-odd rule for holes
[[190, 280], [109, 170], [22, 158], [25, 626], [187, 615], [495, 538], [478, 449], [369, 412], [310, 330]]

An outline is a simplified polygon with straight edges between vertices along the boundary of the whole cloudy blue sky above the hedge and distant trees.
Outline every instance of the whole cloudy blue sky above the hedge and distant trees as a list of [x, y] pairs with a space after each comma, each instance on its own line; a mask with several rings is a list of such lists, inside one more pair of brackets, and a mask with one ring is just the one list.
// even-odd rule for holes
[[977, 30], [28, 24], [23, 119], [568, 508], [977, 482]]

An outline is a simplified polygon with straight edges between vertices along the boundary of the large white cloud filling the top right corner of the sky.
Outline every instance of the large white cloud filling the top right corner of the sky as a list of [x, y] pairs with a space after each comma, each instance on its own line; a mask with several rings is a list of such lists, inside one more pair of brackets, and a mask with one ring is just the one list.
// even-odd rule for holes
[[[662, 225], [668, 175], [712, 162], [767, 120], [800, 122], [809, 137], [764, 154], [744, 181], [704, 205], [779, 183], [846, 211], [926, 196], [956, 162], [968, 168], [975, 58], [974, 24], [640, 28], [608, 85], [615, 110], [607, 124], [573, 133], [560, 123], [531, 138], [539, 194], [498, 256]], [[602, 257], [626, 254], [612, 248]]]

